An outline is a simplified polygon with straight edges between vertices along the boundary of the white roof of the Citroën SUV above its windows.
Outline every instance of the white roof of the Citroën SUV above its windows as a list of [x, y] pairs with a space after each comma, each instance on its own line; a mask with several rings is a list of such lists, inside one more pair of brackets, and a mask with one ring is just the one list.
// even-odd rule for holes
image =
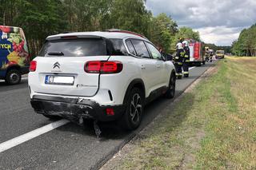
[[128, 34], [122, 32], [101, 32], [101, 31], [94, 31], [94, 32], [74, 32], [74, 33], [65, 33], [65, 34], [56, 34], [51, 35], [46, 38], [46, 40], [54, 40], [60, 39], [63, 37], [70, 37], [70, 36], [77, 36], [78, 38], [137, 38], [148, 41], [146, 38], [142, 38], [137, 34]]

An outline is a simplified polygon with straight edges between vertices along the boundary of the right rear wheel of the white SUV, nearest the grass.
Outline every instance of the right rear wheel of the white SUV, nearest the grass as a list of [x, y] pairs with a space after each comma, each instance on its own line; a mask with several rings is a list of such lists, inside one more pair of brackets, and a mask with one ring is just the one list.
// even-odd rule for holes
[[143, 112], [144, 97], [142, 95], [142, 90], [138, 88], [131, 89], [130, 95], [126, 100], [126, 111], [122, 115], [120, 125], [126, 130], [134, 130], [138, 128], [142, 121]]

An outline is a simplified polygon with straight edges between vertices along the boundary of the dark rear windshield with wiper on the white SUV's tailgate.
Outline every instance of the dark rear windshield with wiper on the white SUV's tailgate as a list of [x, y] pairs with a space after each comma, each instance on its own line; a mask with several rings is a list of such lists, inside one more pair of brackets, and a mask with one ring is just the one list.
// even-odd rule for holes
[[[57, 53], [57, 54], [56, 54]], [[103, 39], [66, 39], [46, 42], [38, 54], [42, 57], [86, 57], [106, 55], [106, 42]]]

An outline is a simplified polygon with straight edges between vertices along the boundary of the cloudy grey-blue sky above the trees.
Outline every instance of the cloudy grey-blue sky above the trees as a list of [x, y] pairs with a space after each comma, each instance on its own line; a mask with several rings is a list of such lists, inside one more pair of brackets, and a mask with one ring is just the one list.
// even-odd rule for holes
[[256, 0], [146, 0], [154, 15], [166, 13], [178, 23], [199, 31], [201, 39], [231, 45], [241, 30], [256, 23]]

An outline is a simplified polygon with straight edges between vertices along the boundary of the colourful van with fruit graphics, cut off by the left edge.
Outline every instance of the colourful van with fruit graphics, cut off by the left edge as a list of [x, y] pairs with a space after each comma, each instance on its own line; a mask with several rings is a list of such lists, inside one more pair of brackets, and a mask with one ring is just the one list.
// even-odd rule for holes
[[30, 55], [23, 30], [0, 26], [0, 79], [18, 84], [22, 74], [29, 73]]

